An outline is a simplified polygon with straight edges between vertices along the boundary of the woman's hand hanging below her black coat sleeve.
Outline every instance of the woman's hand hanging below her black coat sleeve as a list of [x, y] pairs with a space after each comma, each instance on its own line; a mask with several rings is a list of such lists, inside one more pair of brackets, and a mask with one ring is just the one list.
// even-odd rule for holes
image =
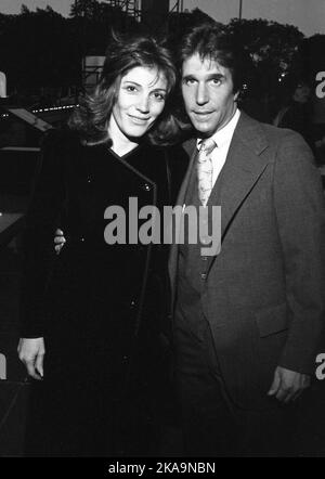
[[34, 379], [42, 379], [43, 373], [43, 359], [46, 353], [44, 339], [43, 338], [21, 338], [18, 344], [18, 357], [25, 364], [27, 373]]

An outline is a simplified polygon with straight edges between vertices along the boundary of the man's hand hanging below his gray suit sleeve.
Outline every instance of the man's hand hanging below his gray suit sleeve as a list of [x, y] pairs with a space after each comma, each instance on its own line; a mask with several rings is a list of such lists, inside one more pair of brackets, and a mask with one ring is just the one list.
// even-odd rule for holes
[[278, 401], [288, 403], [299, 398], [302, 391], [309, 388], [311, 378], [308, 374], [277, 366], [268, 396], [275, 396]]

